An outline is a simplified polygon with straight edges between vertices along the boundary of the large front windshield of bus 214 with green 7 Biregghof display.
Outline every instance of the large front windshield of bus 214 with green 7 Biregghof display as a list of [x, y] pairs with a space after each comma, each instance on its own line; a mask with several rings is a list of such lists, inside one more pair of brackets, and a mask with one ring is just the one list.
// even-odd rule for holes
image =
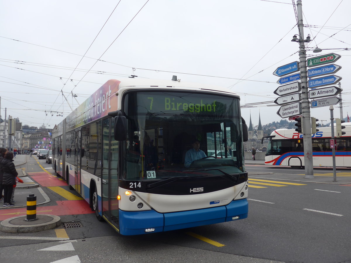
[[126, 94], [123, 103], [123, 179], [244, 172], [238, 97], [143, 91]]

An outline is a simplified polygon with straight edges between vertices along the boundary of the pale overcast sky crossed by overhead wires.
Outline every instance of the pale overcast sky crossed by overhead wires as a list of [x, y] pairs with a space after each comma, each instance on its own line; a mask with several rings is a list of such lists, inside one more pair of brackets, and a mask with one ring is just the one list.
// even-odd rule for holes
[[[351, 1], [302, 5], [311, 25], [305, 38], [313, 39], [307, 56], [342, 56], [336, 75], [343, 78], [343, 117], [351, 115]], [[1, 0], [0, 23], [1, 117], [7, 108], [7, 116], [37, 127], [53, 128], [58, 113], [71, 112], [61, 90], [76, 108], [72, 93], [81, 103], [107, 80], [129, 75], [220, 85], [239, 94], [242, 106], [274, 101], [279, 77], [272, 73], [299, 60], [290, 0]], [[316, 45], [327, 50], [313, 53]], [[251, 113], [254, 126], [259, 113], [262, 124], [280, 121], [280, 106], [266, 105], [241, 113], [247, 123]], [[311, 116], [329, 122], [329, 107]]]

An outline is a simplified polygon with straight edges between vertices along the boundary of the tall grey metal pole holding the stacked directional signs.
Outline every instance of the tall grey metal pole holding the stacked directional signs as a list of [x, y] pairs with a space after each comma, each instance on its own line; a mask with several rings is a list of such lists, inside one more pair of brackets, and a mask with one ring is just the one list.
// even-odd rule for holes
[[311, 112], [310, 101], [308, 99], [307, 87], [307, 67], [306, 67], [306, 49], [305, 42], [310, 40], [304, 39], [304, 26], [302, 19], [302, 1], [297, 0], [297, 18], [299, 26], [299, 59], [300, 59], [300, 78], [301, 78], [301, 115], [303, 119], [303, 142], [304, 142], [304, 161], [305, 161], [305, 178], [313, 177], [313, 155], [312, 155], [312, 137], [311, 137]]

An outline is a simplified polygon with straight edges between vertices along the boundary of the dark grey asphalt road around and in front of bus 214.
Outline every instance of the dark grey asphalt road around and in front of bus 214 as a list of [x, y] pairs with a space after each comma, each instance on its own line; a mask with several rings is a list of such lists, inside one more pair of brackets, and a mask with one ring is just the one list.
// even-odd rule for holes
[[[45, 160], [39, 162], [52, 171]], [[42, 171], [34, 161], [24, 167]], [[62, 215], [62, 222], [81, 225], [65, 229], [67, 238], [57, 229], [0, 232], [1, 262], [351, 262], [350, 185], [267, 180], [267, 173], [299, 175], [303, 170], [257, 164], [246, 169], [264, 178], [249, 176], [249, 217], [244, 220], [121, 236], [94, 214]], [[318, 173], [327, 175], [330, 169]], [[51, 199], [46, 205], [65, 200], [42, 188]]]

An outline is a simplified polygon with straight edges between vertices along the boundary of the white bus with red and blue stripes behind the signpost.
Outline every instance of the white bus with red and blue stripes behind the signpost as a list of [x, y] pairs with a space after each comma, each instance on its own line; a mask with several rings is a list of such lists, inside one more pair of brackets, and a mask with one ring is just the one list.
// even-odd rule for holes
[[[335, 138], [335, 163], [338, 167], [351, 166], [351, 122], [343, 123], [346, 133], [341, 137]], [[312, 134], [312, 151], [313, 166], [333, 167], [333, 153], [330, 148], [331, 127], [318, 128], [315, 134]], [[336, 125], [334, 124], [334, 134], [336, 134]], [[304, 161], [303, 134], [294, 129], [274, 130], [269, 138], [265, 164], [284, 165], [291, 168], [302, 168]]]

